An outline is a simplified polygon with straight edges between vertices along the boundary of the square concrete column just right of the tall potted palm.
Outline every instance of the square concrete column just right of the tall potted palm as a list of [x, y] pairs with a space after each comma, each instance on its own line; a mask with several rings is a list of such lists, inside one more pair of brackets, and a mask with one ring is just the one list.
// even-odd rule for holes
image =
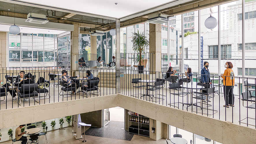
[[149, 23], [149, 71], [161, 71], [161, 24]]

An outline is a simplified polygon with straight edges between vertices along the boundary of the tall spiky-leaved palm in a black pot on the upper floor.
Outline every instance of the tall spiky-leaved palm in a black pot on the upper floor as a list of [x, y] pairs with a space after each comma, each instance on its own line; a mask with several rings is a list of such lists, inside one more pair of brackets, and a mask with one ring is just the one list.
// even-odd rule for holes
[[137, 56], [134, 58], [135, 62], [138, 62], [138, 70], [139, 73], [143, 73], [144, 65], [143, 65], [143, 54], [144, 48], [149, 46], [149, 40], [145, 37], [144, 33], [132, 33], [132, 49], [137, 53]]

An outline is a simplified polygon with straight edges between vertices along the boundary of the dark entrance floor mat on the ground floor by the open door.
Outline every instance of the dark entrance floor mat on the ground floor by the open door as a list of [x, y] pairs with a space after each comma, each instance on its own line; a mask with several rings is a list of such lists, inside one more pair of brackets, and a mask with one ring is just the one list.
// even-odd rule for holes
[[[129, 133], [123, 128], [124, 122], [110, 121], [105, 127], [102, 128], [90, 127], [85, 131], [85, 135], [131, 141], [133, 134]], [[82, 135], [84, 135], [84, 132]]]

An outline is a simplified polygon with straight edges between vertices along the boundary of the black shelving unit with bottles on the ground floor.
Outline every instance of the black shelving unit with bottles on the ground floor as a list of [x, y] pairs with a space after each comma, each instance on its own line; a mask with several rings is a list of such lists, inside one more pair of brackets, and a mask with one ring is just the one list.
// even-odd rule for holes
[[[131, 118], [135, 120], [131, 121]], [[136, 118], [137, 118], [137, 122], [136, 122]], [[143, 119], [144, 119], [144, 123], [143, 123]], [[133, 134], [149, 137], [149, 123], [145, 123], [145, 121], [148, 122], [149, 118], [143, 115], [129, 115], [129, 132]]]

